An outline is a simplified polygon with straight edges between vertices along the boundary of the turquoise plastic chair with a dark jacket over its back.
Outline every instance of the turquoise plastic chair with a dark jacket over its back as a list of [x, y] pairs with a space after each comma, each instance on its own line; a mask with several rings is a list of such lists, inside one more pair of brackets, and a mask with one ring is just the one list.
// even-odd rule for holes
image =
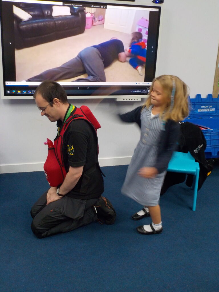
[[198, 191], [198, 182], [199, 182], [199, 163], [195, 162], [194, 157], [188, 153], [173, 152], [173, 156], [168, 164], [167, 171], [193, 174], [193, 184], [192, 189], [194, 190], [194, 198], [193, 198], [193, 206], [192, 211], [196, 209], [196, 201], [197, 201], [197, 191]]

